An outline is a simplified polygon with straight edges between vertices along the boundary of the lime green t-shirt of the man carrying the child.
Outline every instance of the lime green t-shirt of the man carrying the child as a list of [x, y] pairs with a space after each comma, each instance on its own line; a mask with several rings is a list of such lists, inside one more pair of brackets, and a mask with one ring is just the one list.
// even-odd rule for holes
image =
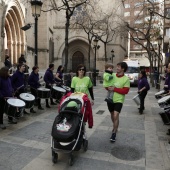
[[[116, 74], [113, 74], [113, 82], [114, 82], [114, 86], [117, 88], [123, 88], [123, 87], [129, 87], [130, 88], [130, 80], [127, 76], [123, 76], [123, 77], [117, 77]], [[123, 103], [125, 100], [125, 95], [124, 94], [120, 94], [117, 92], [114, 92], [113, 95], [113, 102], [114, 103]]]

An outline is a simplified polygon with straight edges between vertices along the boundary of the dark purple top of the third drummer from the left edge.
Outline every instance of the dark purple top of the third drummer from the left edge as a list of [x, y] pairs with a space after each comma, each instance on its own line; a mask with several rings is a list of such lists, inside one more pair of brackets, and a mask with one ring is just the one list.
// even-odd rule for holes
[[39, 88], [41, 86], [39, 83], [39, 74], [35, 74], [34, 71], [32, 71], [28, 78], [28, 84], [34, 89]]

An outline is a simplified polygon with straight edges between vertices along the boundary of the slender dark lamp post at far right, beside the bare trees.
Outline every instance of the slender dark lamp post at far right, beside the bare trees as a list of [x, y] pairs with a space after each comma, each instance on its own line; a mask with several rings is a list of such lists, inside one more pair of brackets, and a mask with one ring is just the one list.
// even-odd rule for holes
[[161, 45], [162, 45], [162, 36], [160, 35], [157, 40], [158, 40], [158, 77], [157, 77], [157, 89], [160, 90], [160, 81], [159, 81], [159, 76], [160, 76], [160, 57], [161, 57]]

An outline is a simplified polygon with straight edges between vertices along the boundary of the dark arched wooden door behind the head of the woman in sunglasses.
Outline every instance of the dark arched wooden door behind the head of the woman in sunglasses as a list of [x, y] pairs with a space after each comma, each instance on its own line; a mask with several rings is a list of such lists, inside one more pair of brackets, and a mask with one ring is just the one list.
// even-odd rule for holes
[[72, 56], [72, 70], [76, 72], [76, 68], [79, 64], [84, 63], [84, 55], [80, 51], [76, 51]]

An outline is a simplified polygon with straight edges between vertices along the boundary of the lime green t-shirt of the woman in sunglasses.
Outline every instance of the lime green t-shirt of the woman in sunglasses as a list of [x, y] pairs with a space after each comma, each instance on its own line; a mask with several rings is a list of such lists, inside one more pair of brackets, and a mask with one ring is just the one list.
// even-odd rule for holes
[[71, 81], [71, 88], [74, 88], [75, 92], [82, 92], [88, 95], [90, 99], [89, 88], [93, 86], [89, 77], [85, 76], [83, 78], [73, 77]]

